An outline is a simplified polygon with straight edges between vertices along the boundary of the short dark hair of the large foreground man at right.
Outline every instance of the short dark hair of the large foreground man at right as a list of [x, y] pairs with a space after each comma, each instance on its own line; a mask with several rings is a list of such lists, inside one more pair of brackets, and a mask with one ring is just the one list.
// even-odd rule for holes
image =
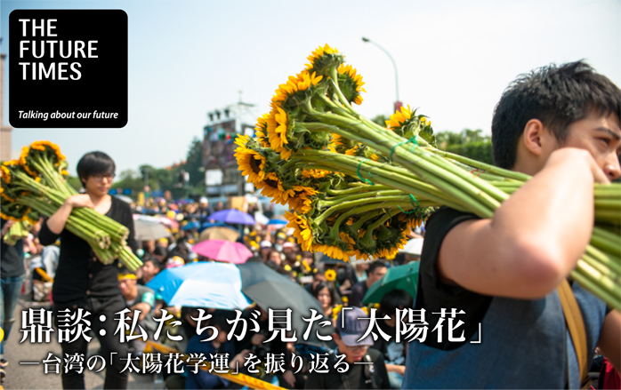
[[554, 64], [518, 76], [503, 92], [492, 119], [494, 163], [511, 169], [526, 123], [538, 119], [559, 142], [569, 124], [595, 112], [621, 117], [621, 91], [585, 61]]

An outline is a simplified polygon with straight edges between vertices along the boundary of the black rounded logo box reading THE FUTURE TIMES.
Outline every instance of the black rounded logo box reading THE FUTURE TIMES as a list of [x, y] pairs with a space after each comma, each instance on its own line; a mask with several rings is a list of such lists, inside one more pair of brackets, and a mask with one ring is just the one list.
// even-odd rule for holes
[[[20, 20], [28, 20], [26, 36]], [[36, 36], [33, 36], [32, 20], [36, 21], [37, 27], [44, 20], [43, 31], [36, 29]], [[54, 28], [49, 31], [48, 20], [56, 20], [51, 22]], [[47, 36], [48, 32], [56, 36]], [[28, 42], [22, 44], [20, 41]], [[75, 50], [81, 47], [76, 41], [85, 43], [82, 52]], [[91, 44], [91, 52], [88, 50], [89, 41], [96, 41]], [[65, 56], [68, 56], [71, 45], [69, 58], [60, 57], [60, 42]], [[44, 56], [35, 58], [35, 54], [37, 57], [41, 55], [42, 43]], [[25, 49], [20, 58], [22, 47]], [[82, 53], [87, 58], [83, 58]], [[88, 58], [89, 53], [97, 58]], [[125, 11], [15, 10], [9, 16], [8, 60], [9, 122], [13, 127], [120, 128], [127, 124]], [[33, 63], [36, 64], [36, 80], [33, 80]], [[26, 75], [24, 68], [27, 69]], [[60, 80], [60, 75], [67, 80]]]

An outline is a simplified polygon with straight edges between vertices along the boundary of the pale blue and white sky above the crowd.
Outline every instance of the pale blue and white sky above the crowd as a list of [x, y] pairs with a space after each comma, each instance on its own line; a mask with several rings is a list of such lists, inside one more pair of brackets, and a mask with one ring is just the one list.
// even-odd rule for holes
[[[117, 173], [163, 168], [202, 138], [207, 113], [240, 99], [269, 111], [278, 84], [330, 44], [358, 69], [367, 93], [359, 112], [390, 115], [396, 99], [431, 117], [435, 131], [481, 129], [518, 75], [585, 59], [621, 85], [621, 0], [590, 1], [5, 1], [0, 51], [9, 52], [15, 9], [121, 9], [128, 15], [129, 120], [122, 129], [14, 129], [12, 150], [49, 139], [79, 158], [101, 150]], [[114, 28], [114, 26], [110, 26]], [[7, 59], [8, 60], [8, 59]], [[4, 124], [11, 85], [4, 71]], [[93, 93], [97, 93], [93, 91]]]

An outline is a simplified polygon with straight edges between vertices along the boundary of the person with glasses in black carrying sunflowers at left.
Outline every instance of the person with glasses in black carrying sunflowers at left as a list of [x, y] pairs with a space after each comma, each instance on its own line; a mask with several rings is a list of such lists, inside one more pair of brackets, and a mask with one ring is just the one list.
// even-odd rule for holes
[[[125, 309], [125, 300], [118, 288], [117, 263], [106, 266], [97, 259], [90, 245], [65, 229], [69, 214], [77, 207], [90, 207], [129, 228], [127, 244], [135, 251], [132, 211], [129, 205], [108, 195], [114, 178], [115, 163], [101, 152], [84, 155], [77, 163], [77, 174], [85, 187], [85, 194], [72, 195], [44, 221], [39, 232], [39, 241], [49, 245], [60, 236], [60, 259], [56, 278], [52, 287], [54, 312], [69, 309], [75, 313], [84, 309], [90, 313], [85, 319], [91, 322], [91, 329], [99, 338], [101, 355], [112, 364], [107, 366], [104, 388], [126, 388], [128, 371], [121, 373], [125, 364], [120, 358], [127, 358], [128, 349], [115, 336], [116, 313]], [[101, 321], [101, 315], [105, 320]], [[77, 338], [72, 343], [61, 343], [62, 353], [85, 354], [88, 342]], [[111, 354], [116, 353], [116, 354]], [[62, 373], [64, 388], [85, 388], [84, 373], [76, 370]]]

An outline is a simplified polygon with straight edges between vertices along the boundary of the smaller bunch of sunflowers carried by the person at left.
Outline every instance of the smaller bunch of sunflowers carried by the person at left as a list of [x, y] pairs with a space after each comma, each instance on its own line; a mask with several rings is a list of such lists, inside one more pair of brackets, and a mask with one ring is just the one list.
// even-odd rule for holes
[[[65, 156], [50, 141], [35, 141], [23, 147], [20, 158], [0, 166], [0, 195], [3, 219], [36, 224], [39, 214], [51, 216], [77, 191], [69, 185]], [[91, 245], [104, 264], [119, 259], [132, 270], [142, 265], [126, 248], [129, 229], [89, 208], [71, 211], [66, 224], [69, 232]]]

